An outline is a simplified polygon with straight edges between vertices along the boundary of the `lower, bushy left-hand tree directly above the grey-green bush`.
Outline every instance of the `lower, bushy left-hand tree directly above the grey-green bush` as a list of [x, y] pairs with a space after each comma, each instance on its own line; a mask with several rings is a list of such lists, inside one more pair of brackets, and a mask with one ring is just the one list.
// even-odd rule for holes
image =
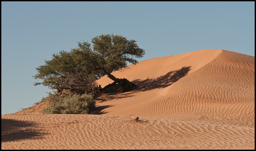
[[93, 70], [84, 71], [75, 61], [75, 56], [66, 51], [52, 54], [51, 60], [45, 60], [45, 65], [36, 68], [38, 73], [35, 79], [43, 82], [35, 82], [34, 86], [44, 85], [52, 89], [57, 95], [84, 94], [97, 90], [97, 80]]

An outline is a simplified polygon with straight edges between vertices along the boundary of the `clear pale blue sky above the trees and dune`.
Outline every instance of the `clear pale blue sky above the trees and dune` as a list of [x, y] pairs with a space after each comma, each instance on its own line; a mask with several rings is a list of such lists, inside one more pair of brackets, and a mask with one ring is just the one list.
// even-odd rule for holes
[[1, 2], [1, 115], [47, 96], [31, 76], [52, 53], [111, 33], [136, 40], [139, 61], [202, 49], [255, 56], [255, 2]]

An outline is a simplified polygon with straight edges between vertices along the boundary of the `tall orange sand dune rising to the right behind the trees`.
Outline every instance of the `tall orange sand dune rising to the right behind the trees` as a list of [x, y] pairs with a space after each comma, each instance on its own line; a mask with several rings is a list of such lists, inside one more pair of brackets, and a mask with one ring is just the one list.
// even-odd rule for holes
[[[130, 68], [113, 75], [130, 81], [138, 75], [143, 80], [134, 81], [142, 86], [115, 101], [99, 103], [109, 106], [103, 113], [176, 120], [231, 120], [254, 126], [253, 56], [226, 50], [199, 50], [141, 61]], [[186, 76], [180, 74], [181, 70]], [[170, 71], [174, 72], [168, 74]], [[150, 78], [146, 80], [147, 77]], [[103, 86], [111, 82], [107, 77], [98, 81]]]

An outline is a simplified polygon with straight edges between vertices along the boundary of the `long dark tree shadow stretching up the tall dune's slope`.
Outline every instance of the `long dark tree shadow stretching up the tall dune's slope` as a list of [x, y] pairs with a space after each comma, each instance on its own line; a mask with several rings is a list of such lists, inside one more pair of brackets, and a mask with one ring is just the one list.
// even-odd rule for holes
[[148, 91], [153, 89], [164, 88], [177, 82], [182, 77], [186, 76], [191, 70], [192, 66], [185, 66], [179, 70], [173, 70], [163, 76], [159, 76], [156, 79], [141, 80], [136, 79], [133, 81], [137, 86], [134, 87], [133, 91]]

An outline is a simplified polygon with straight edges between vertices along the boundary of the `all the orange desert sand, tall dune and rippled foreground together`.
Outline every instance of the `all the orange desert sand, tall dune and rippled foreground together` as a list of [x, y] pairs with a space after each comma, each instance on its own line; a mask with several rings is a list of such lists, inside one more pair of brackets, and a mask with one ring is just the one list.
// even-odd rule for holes
[[129, 68], [112, 74], [137, 86], [102, 94], [94, 115], [42, 115], [46, 103], [1, 115], [1, 149], [255, 149], [254, 56], [207, 49]]

